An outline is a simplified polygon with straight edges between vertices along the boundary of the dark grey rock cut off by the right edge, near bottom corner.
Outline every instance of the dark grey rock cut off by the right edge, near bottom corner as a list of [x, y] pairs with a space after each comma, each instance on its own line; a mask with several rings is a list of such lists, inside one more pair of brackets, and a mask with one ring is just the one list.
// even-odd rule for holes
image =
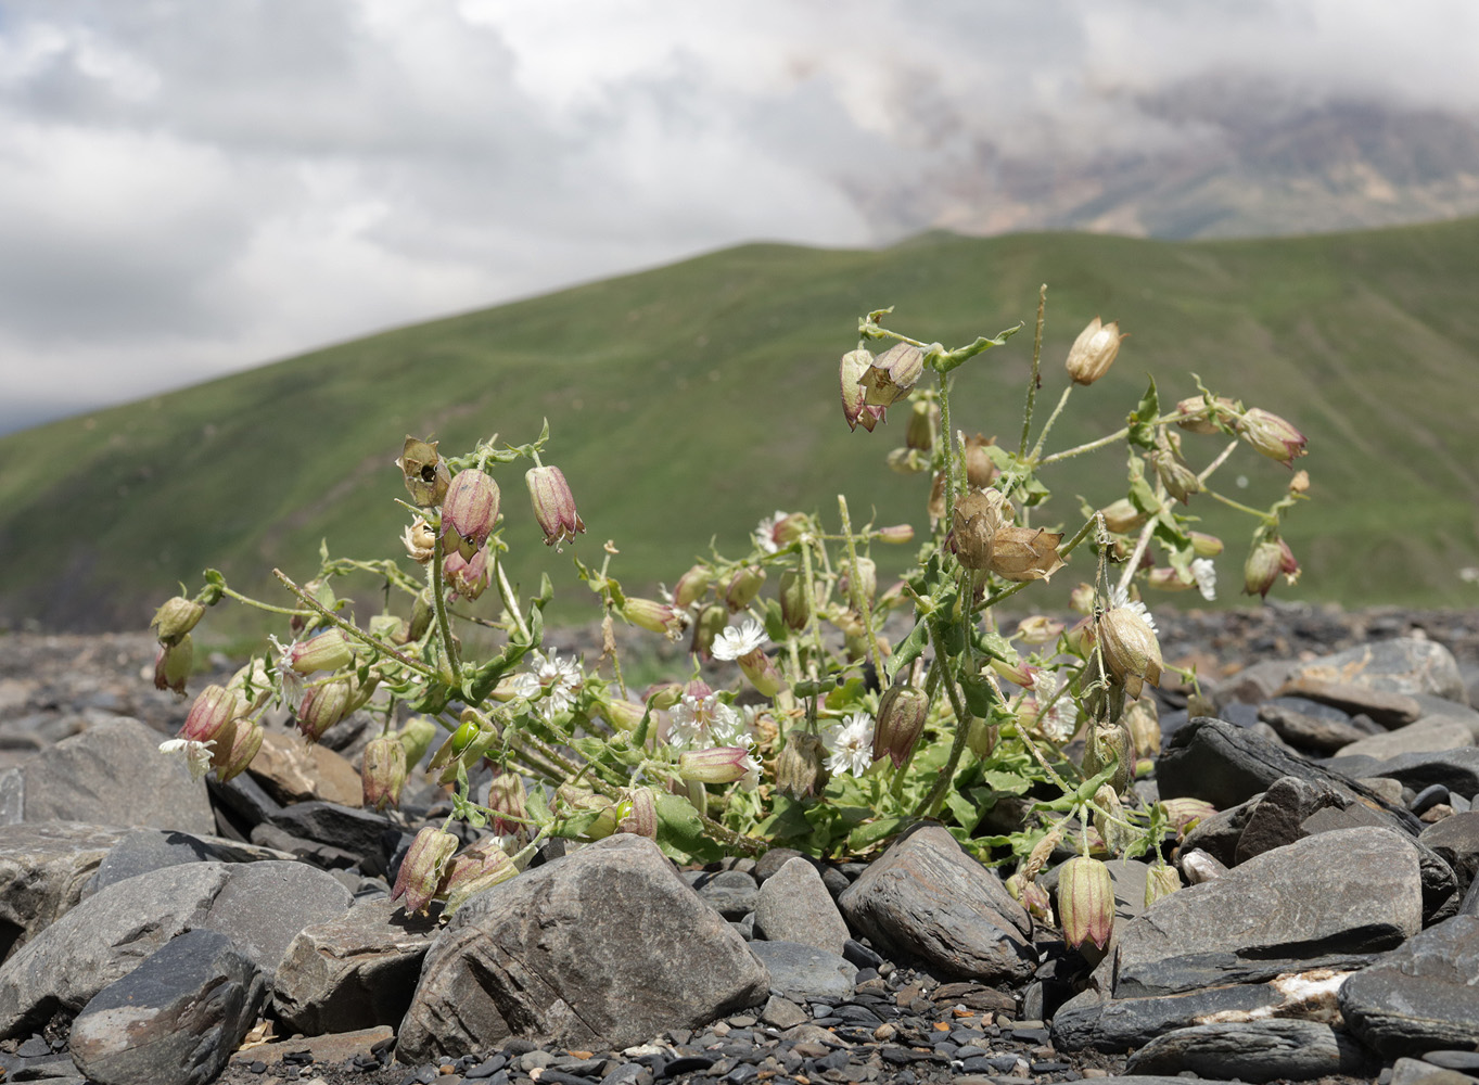
[[1383, 1055], [1479, 1047], [1479, 916], [1457, 915], [1346, 980], [1340, 1013]]

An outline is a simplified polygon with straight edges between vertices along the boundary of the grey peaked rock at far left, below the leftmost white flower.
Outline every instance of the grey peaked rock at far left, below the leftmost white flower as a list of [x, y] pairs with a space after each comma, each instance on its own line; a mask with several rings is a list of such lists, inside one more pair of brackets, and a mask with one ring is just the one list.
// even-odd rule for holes
[[127, 717], [43, 749], [25, 764], [25, 820], [92, 820], [211, 834], [206, 785], [160, 752], [163, 736]]

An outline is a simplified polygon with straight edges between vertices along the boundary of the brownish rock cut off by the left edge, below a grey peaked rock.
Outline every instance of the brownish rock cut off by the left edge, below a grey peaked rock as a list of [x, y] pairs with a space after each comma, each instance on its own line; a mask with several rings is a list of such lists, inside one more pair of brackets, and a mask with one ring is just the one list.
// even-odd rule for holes
[[0, 826], [0, 959], [81, 900], [87, 880], [127, 832], [81, 822]]

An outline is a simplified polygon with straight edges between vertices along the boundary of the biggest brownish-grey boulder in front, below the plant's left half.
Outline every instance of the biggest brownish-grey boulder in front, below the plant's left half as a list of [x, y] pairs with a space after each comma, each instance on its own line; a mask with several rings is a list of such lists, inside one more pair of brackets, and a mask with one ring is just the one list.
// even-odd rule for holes
[[765, 1001], [771, 979], [657, 844], [608, 837], [473, 896], [422, 967], [398, 1057], [509, 1036], [623, 1048]]

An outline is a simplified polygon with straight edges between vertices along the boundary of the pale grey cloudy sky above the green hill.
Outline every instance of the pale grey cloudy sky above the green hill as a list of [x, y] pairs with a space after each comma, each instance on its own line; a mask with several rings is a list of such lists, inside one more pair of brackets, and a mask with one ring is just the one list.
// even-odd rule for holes
[[1472, 0], [0, 0], [0, 432], [747, 239], [1199, 75], [1479, 108]]

